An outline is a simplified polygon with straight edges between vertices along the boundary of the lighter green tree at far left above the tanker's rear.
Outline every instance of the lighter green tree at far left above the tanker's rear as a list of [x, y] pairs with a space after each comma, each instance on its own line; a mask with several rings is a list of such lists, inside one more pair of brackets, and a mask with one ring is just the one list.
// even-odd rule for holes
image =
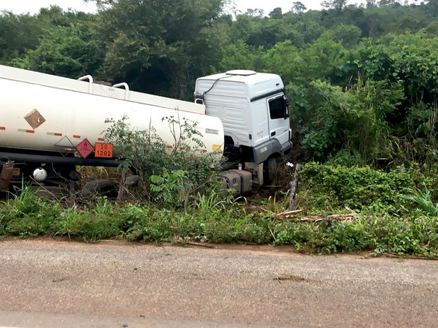
[[8, 65], [78, 78], [95, 73], [102, 63], [105, 47], [97, 38], [91, 14], [51, 6], [35, 16], [4, 13], [2, 24], [8, 47], [0, 56]]

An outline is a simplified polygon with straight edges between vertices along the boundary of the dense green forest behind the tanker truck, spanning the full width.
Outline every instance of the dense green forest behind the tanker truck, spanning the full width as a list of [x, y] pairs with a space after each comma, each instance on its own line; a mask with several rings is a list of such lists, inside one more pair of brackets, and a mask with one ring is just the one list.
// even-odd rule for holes
[[295, 159], [438, 173], [437, 0], [291, 1], [268, 16], [227, 13], [227, 0], [97, 2], [96, 14], [1, 12], [0, 63], [187, 100], [201, 75], [277, 73]]

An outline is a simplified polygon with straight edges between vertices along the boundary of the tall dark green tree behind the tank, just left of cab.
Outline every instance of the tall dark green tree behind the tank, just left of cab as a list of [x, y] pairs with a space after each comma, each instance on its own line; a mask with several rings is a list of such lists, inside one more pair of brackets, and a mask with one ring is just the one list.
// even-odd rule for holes
[[196, 76], [218, 61], [215, 22], [223, 0], [105, 1], [102, 73], [134, 90], [188, 98]]

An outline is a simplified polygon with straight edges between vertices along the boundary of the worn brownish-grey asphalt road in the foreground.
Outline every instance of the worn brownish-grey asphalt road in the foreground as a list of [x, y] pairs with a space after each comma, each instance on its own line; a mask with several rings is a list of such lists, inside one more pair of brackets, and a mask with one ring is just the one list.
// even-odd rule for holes
[[438, 327], [438, 262], [0, 242], [0, 327]]

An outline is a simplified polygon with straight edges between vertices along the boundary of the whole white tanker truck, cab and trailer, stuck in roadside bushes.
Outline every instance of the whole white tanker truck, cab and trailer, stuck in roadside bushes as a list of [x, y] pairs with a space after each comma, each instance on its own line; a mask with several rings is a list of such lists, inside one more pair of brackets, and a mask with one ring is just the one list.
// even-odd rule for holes
[[[292, 146], [288, 99], [274, 74], [228, 71], [199, 78], [192, 103], [133, 92], [126, 83], [97, 83], [90, 75], [73, 80], [0, 66], [0, 92], [0, 190], [35, 181], [72, 189], [81, 178], [76, 166], [118, 166], [105, 140], [109, 118], [125, 116], [139, 130], [151, 125], [171, 143], [162, 118], [178, 111], [197, 123], [203, 152], [225, 154], [223, 188], [237, 193], [268, 183], [275, 158]], [[92, 184], [97, 192], [109, 186]]]

